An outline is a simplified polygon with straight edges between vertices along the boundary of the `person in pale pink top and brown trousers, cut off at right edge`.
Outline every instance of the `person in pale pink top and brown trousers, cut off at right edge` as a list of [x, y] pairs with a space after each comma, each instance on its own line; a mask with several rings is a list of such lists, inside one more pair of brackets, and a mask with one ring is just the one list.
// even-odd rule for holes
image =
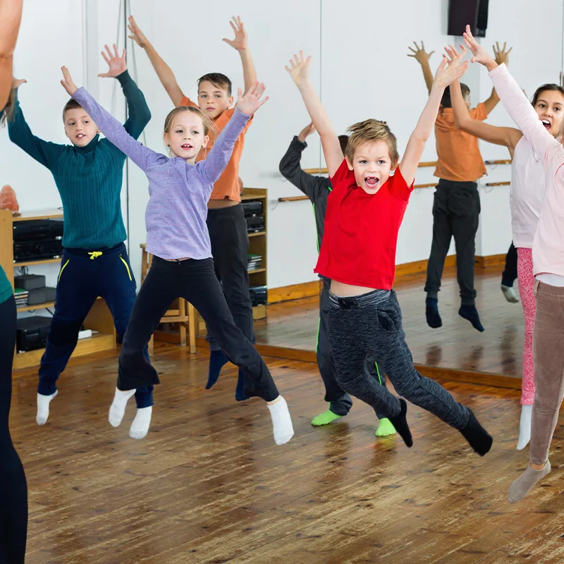
[[544, 198], [532, 252], [537, 312], [533, 333], [536, 390], [531, 447], [527, 470], [509, 488], [509, 501], [515, 503], [551, 471], [548, 447], [564, 397], [564, 147], [562, 130], [558, 139], [546, 130], [507, 67], [497, 65], [472, 37], [469, 26], [465, 41], [474, 54], [472, 62], [482, 63], [488, 69], [503, 106], [531, 142], [545, 172]]

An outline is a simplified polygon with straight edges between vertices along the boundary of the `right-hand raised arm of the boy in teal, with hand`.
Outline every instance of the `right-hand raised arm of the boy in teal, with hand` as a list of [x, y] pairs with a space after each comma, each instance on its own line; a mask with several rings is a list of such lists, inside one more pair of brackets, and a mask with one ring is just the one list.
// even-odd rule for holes
[[104, 61], [108, 63], [109, 68], [107, 73], [101, 73], [98, 76], [101, 78], [116, 78], [120, 83], [125, 100], [128, 102], [129, 113], [129, 117], [123, 124], [123, 127], [131, 137], [138, 139], [145, 129], [145, 125], [151, 119], [149, 106], [145, 102], [145, 96], [143, 96], [143, 93], [135, 84], [135, 80], [128, 73], [128, 66], [125, 62], [125, 49], [123, 49], [120, 56], [115, 44], [114, 53], [110, 51], [107, 45], [104, 47], [106, 47], [106, 52], [102, 51], [102, 56]]

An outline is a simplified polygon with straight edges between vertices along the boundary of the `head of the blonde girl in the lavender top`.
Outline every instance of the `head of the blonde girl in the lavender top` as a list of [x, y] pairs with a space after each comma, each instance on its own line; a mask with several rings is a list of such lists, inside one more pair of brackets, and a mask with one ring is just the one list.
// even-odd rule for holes
[[170, 147], [172, 157], [194, 164], [200, 149], [207, 147], [209, 136], [204, 133], [204, 122], [198, 114], [180, 111], [165, 131], [164, 142]]

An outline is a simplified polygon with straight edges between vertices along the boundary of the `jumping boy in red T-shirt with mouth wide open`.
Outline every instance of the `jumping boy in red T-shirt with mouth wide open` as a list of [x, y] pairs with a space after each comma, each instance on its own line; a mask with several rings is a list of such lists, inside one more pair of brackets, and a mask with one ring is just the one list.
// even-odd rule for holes
[[[388, 417], [405, 444], [412, 446], [405, 400], [393, 396], [364, 372], [365, 359], [372, 355], [398, 394], [460, 430], [470, 446], [483, 456], [489, 452], [492, 439], [472, 411], [413, 366], [401, 326], [400, 306], [392, 290], [398, 231], [419, 159], [442, 94], [450, 82], [460, 78], [467, 63], [453, 61], [446, 68], [443, 59], [427, 105], [398, 166], [396, 137], [385, 122], [374, 119], [349, 128], [343, 160], [329, 116], [309, 82], [310, 59], [300, 52], [286, 70], [298, 86], [321, 137], [333, 185], [315, 271], [331, 278], [327, 318], [338, 384]], [[393, 169], [395, 173], [391, 175]]]

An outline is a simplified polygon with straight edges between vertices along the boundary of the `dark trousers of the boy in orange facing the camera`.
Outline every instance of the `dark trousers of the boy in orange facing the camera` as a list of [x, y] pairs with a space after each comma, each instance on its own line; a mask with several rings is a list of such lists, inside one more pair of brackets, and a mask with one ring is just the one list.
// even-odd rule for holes
[[[247, 261], [249, 235], [243, 207], [238, 204], [208, 209], [206, 223], [216, 276], [221, 282], [233, 321], [243, 335], [251, 343], [255, 343]], [[219, 350], [221, 346], [214, 338], [213, 331], [208, 328], [207, 333], [209, 349]]]

